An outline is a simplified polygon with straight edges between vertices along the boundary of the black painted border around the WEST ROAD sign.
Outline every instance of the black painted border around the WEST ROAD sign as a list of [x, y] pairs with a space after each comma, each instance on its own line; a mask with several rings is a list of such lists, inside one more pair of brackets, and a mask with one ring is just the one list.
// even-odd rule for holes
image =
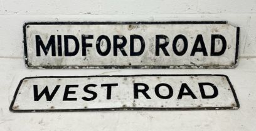
[[[230, 84], [230, 89], [232, 90], [235, 102], [237, 104], [237, 107], [195, 107], [195, 108], [143, 108], [143, 107], [120, 107], [120, 108], [105, 108], [105, 109], [51, 109], [51, 110], [13, 110], [13, 105], [15, 102], [15, 99], [18, 95], [19, 88], [21, 87], [21, 84], [23, 80], [25, 79], [33, 79], [33, 78], [78, 78], [78, 77], [140, 77], [140, 76], [222, 76], [226, 77], [228, 80], [228, 84]], [[240, 104], [237, 99], [237, 94], [235, 94], [235, 89], [233, 89], [233, 85], [230, 82], [230, 79], [227, 75], [223, 74], [174, 74], [174, 75], [88, 75], [88, 76], [39, 76], [39, 77], [25, 77], [21, 79], [19, 82], [19, 85], [15, 91], [15, 94], [13, 96], [13, 100], [11, 101], [11, 105], [9, 107], [9, 110], [11, 112], [83, 112], [83, 111], [110, 111], [110, 110], [232, 110], [232, 109], [239, 109]]]

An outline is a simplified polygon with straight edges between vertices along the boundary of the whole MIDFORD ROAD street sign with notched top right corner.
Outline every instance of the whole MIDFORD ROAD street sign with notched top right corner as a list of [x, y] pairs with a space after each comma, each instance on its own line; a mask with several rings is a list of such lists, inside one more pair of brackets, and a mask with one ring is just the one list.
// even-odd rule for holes
[[227, 22], [29, 22], [31, 69], [230, 68], [239, 27]]

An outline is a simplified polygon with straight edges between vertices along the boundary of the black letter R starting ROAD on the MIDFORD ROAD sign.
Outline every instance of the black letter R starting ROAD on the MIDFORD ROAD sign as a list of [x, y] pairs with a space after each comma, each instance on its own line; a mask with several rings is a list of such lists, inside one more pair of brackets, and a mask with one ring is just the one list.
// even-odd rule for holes
[[[164, 39], [164, 43], [160, 44], [160, 39]], [[167, 36], [164, 35], [156, 35], [156, 56], [159, 56], [159, 49], [161, 48], [162, 51], [164, 52], [165, 56], [170, 56], [168, 51], [166, 50], [166, 46], [168, 46], [169, 41], [166, 41], [169, 39]]]

